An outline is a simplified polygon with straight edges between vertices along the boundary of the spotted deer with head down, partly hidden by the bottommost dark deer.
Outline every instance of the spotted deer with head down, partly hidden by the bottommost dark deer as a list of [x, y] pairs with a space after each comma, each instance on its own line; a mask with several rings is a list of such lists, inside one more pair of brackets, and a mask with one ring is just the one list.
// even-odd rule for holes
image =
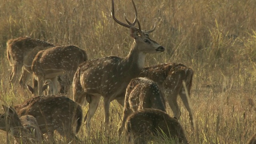
[[134, 78], [126, 88], [123, 117], [118, 130], [119, 136], [128, 116], [144, 108], [154, 108], [166, 112], [164, 94], [156, 82], [148, 78]]

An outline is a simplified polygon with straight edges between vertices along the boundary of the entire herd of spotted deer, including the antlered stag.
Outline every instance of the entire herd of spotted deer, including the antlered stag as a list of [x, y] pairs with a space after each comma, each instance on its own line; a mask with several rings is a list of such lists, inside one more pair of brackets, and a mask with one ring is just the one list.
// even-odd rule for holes
[[[10, 83], [17, 83], [19, 71], [22, 70], [18, 83], [25, 88], [32, 74], [32, 86], [27, 87], [34, 97], [13, 107], [3, 105], [0, 129], [7, 131], [7, 134], [10, 132], [17, 143], [42, 143], [42, 138], [54, 142], [54, 130], [65, 136], [66, 142], [81, 142], [75, 135], [82, 124], [80, 104], [89, 105], [84, 118], [89, 129], [102, 96], [105, 124], [109, 122], [112, 100], [117, 100], [124, 107], [119, 136], [125, 127], [128, 140], [136, 144], [146, 143], [159, 134], [188, 143], [177, 120], [181, 115], [177, 97], [180, 95], [193, 127], [193, 111], [189, 105], [193, 70], [175, 63], [144, 67], [146, 53], [164, 52], [165, 48], [149, 37], [155, 26], [149, 31], [141, 30], [133, 0], [132, 4], [136, 17], [134, 22], [129, 22], [125, 17], [128, 23], [125, 24], [116, 19], [112, 0], [113, 19], [129, 28], [130, 36], [134, 39], [125, 58], [107, 56], [88, 60], [85, 50], [77, 46], [59, 46], [26, 36], [8, 40], [7, 58], [12, 66]], [[138, 28], [135, 27], [136, 23]], [[58, 81], [58, 76], [61, 81]], [[50, 82], [44, 84], [45, 80]], [[73, 82], [74, 101], [58, 95], [58, 82], [66, 89], [65, 93], [70, 81]], [[41, 96], [47, 87], [50, 89], [48, 96]], [[166, 113], [166, 100], [174, 118]], [[43, 134], [47, 134], [48, 138]]]

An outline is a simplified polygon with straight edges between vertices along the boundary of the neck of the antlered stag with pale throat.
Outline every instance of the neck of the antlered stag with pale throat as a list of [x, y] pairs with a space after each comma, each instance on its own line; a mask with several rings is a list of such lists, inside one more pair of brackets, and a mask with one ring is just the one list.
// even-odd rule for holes
[[124, 61], [130, 66], [130, 70], [134, 73], [140, 73], [145, 65], [146, 53], [140, 52], [136, 42], [132, 44], [129, 54], [124, 58]]

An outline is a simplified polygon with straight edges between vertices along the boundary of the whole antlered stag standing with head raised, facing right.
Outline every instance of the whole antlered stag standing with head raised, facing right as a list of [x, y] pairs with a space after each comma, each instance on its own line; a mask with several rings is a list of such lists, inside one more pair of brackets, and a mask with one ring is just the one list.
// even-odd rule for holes
[[[104, 98], [104, 122], [109, 122], [109, 106], [114, 99], [122, 106], [124, 105], [125, 89], [130, 80], [136, 78], [142, 68], [146, 58], [146, 53], [164, 52], [164, 47], [151, 40], [148, 36], [155, 27], [149, 31], [142, 31], [137, 16], [137, 10], [132, 1], [136, 18], [133, 23], [124, 24], [116, 19], [114, 15], [114, 0], [112, 0], [112, 17], [120, 25], [130, 29], [130, 36], [134, 39], [134, 44], [130, 53], [125, 58], [118, 56], [107, 56], [104, 58], [88, 60], [81, 64], [75, 73], [73, 81], [73, 99], [78, 103], [83, 103], [84, 97], [89, 103], [86, 114], [86, 126], [89, 127], [90, 120], [94, 115], [100, 96]], [[138, 28], [134, 24], [138, 22]]]

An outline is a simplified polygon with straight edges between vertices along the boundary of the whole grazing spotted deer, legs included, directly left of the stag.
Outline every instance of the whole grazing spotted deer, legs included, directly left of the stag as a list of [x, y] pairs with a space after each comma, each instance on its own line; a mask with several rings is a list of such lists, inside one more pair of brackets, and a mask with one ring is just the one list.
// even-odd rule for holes
[[[87, 60], [85, 50], [77, 46], [56, 46], [41, 50], [38, 52], [32, 62], [33, 88], [28, 86], [29, 90], [36, 95], [42, 94], [44, 89], [44, 80], [51, 80], [53, 85], [53, 94], [57, 94], [58, 80], [57, 76], [67, 74], [68, 79], [72, 80], [79, 64]], [[67, 84], [69, 88], [69, 84]]]

